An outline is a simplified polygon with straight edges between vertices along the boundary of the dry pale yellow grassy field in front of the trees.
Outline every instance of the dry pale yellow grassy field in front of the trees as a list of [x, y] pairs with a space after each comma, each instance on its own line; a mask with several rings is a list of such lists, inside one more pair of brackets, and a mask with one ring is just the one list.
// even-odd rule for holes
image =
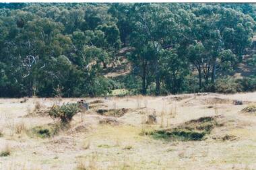
[[256, 93], [86, 98], [69, 128], [47, 112], [78, 98], [23, 100], [0, 99], [0, 169], [256, 169]]

